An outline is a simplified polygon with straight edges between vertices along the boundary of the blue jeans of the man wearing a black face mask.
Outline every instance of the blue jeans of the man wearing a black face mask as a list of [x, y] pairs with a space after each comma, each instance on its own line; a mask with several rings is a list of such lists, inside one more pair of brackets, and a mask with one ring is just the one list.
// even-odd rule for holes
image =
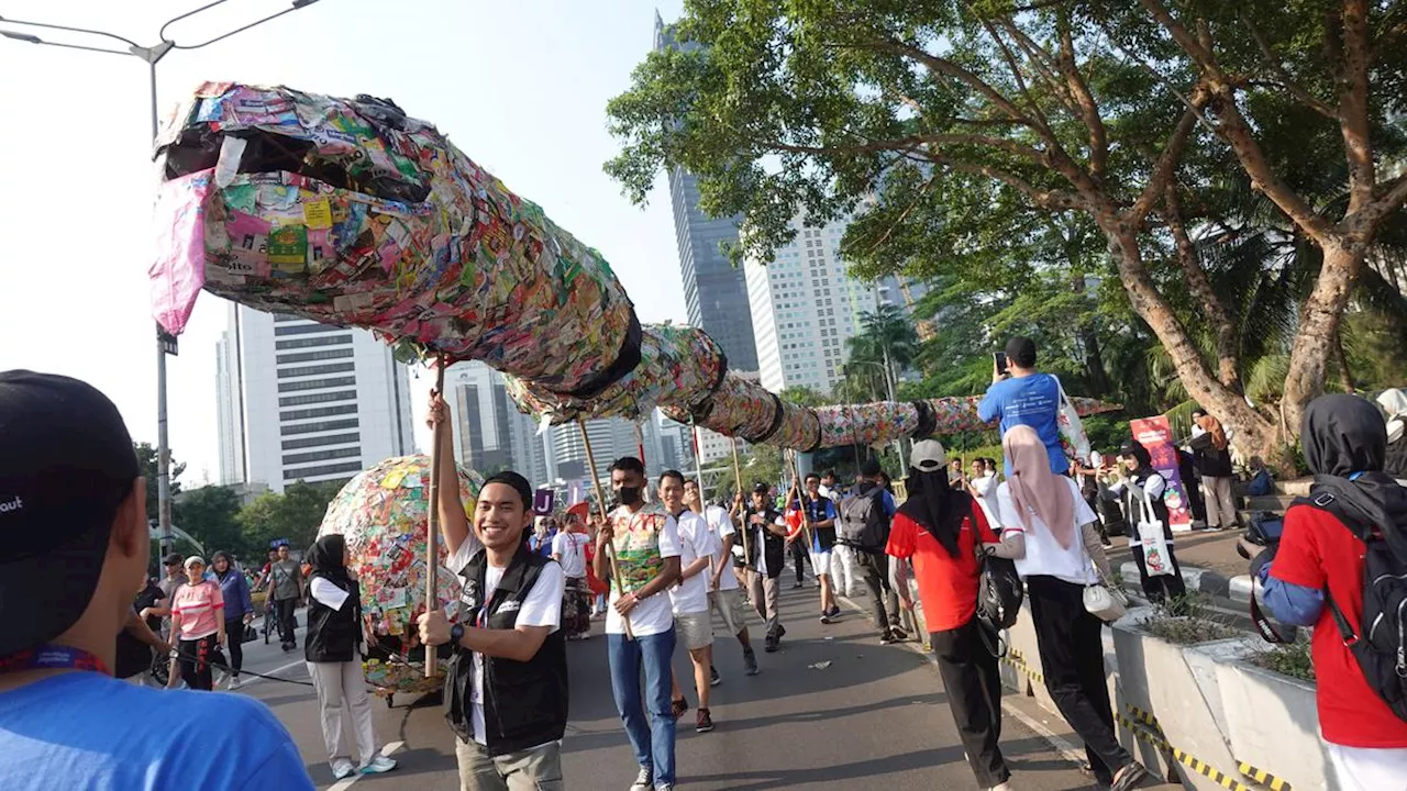
[[[653, 767], [654, 785], [674, 783], [674, 711], [670, 701], [670, 660], [674, 656], [674, 628], [658, 635], [606, 635], [611, 657], [611, 691], [616, 711], [635, 747], [635, 760]], [[640, 700], [640, 667], [644, 666], [644, 695]], [[644, 704], [650, 719], [646, 722]]]

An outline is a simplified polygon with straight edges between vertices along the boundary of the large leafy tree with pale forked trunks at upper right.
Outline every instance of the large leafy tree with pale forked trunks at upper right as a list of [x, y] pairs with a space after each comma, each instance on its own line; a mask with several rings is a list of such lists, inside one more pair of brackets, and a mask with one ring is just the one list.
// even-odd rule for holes
[[[1010, 260], [1033, 228], [1088, 229], [1185, 391], [1245, 449], [1285, 459], [1349, 286], [1407, 200], [1407, 175], [1379, 177], [1404, 152], [1389, 124], [1400, 14], [1366, 0], [696, 0], [675, 38], [701, 46], [651, 52], [608, 106], [625, 151], [606, 170], [637, 201], [661, 167], [695, 173], [705, 211], [743, 217], [732, 252], [758, 260], [799, 213], [822, 225], [864, 208], [844, 256], [912, 276]], [[1325, 215], [1304, 186], [1335, 160], [1348, 200]], [[1241, 396], [1240, 317], [1192, 243], [1223, 221], [1199, 194], [1228, 169], [1323, 253], [1283, 400], [1261, 410]]]

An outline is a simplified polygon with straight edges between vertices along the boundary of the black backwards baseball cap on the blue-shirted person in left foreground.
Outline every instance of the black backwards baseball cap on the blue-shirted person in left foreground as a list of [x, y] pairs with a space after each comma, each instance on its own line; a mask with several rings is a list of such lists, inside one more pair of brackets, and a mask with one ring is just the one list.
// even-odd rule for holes
[[66, 376], [0, 372], [0, 656], [83, 616], [141, 474], [106, 396]]

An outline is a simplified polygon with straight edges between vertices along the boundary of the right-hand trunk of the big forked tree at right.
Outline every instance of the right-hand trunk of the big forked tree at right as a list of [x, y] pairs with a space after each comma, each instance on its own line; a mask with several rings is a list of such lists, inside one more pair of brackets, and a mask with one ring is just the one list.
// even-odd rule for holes
[[1290, 373], [1285, 379], [1280, 414], [1286, 435], [1300, 434], [1300, 417], [1310, 401], [1324, 394], [1324, 376], [1334, 353], [1338, 324], [1348, 307], [1348, 291], [1363, 265], [1363, 248], [1346, 239], [1323, 245], [1324, 265], [1300, 310], [1300, 327], [1290, 346]]

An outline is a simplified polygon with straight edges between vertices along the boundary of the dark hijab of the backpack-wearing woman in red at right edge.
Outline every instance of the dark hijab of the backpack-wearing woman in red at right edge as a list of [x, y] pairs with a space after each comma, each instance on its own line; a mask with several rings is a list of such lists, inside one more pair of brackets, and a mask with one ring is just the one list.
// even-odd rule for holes
[[1304, 408], [1300, 443], [1314, 473], [1310, 494], [1332, 494], [1330, 511], [1341, 521], [1377, 528], [1393, 555], [1407, 559], [1407, 488], [1383, 472], [1387, 426], [1377, 407], [1356, 396], [1321, 396]]

